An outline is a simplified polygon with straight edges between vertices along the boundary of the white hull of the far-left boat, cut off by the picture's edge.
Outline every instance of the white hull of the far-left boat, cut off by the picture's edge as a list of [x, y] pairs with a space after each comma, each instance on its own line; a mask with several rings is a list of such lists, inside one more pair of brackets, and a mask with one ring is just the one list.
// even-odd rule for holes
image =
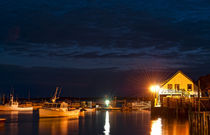
[[33, 107], [16, 107], [0, 105], [0, 111], [33, 111]]

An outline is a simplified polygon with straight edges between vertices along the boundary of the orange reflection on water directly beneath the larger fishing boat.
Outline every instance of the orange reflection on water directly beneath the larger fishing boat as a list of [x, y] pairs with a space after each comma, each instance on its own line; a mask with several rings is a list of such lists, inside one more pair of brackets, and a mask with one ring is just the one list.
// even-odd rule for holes
[[41, 118], [39, 119], [39, 134], [79, 134], [79, 119]]

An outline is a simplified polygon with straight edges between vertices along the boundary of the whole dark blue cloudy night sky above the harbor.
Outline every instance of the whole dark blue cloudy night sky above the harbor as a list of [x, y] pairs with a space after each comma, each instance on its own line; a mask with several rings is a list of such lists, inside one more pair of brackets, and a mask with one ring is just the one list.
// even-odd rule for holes
[[0, 93], [143, 96], [210, 73], [208, 0], [1, 0]]

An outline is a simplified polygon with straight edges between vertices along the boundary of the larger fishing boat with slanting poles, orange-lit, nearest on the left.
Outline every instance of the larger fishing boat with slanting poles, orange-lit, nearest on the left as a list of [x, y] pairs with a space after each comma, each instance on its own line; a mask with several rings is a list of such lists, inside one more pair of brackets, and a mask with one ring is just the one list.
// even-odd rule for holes
[[[60, 89], [61, 91], [61, 89]], [[56, 88], [55, 94], [52, 98], [52, 103], [45, 103], [43, 108], [39, 109], [39, 117], [69, 117], [79, 118], [80, 109], [68, 108], [68, 104], [65, 102], [55, 103], [58, 92]]]

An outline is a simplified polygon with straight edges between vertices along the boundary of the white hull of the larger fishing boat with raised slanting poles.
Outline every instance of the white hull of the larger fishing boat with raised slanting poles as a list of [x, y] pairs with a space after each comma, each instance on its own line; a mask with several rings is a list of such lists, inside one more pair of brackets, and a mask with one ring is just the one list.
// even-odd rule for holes
[[39, 109], [39, 117], [70, 117], [79, 118], [80, 109], [63, 111], [60, 109]]

